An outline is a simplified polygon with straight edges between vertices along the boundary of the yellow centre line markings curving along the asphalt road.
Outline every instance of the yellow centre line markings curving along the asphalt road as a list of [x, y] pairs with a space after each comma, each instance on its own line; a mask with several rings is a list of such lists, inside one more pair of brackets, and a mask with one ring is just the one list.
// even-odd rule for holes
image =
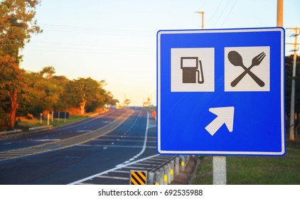
[[117, 129], [117, 127], [123, 124], [132, 115], [133, 112], [133, 110], [127, 109], [127, 112], [117, 117], [117, 119], [115, 119], [113, 122], [105, 125], [104, 127], [101, 127], [100, 129], [96, 129], [85, 134], [80, 134], [59, 141], [39, 144], [36, 146], [29, 146], [22, 149], [13, 149], [10, 151], [0, 152], [0, 161], [5, 161], [13, 158], [21, 158], [24, 156], [31, 156], [35, 154], [42, 154], [48, 151], [56, 151], [60, 149], [69, 148], [78, 144], [84, 144], [87, 141], [97, 139], [98, 137], [104, 136], [105, 134], [108, 134], [114, 129]]

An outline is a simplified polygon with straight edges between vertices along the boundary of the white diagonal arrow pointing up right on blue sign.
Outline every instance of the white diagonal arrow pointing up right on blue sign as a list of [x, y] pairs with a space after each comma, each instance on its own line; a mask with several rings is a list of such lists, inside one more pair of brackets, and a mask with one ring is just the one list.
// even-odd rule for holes
[[218, 117], [205, 127], [208, 133], [213, 136], [223, 124], [226, 125], [230, 132], [233, 131], [233, 115], [235, 114], [235, 107], [210, 108], [209, 111]]

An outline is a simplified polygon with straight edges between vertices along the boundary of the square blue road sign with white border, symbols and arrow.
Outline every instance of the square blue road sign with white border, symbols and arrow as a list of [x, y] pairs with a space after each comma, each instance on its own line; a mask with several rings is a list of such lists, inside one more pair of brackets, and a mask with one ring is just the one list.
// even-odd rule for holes
[[284, 28], [159, 31], [160, 154], [282, 156]]

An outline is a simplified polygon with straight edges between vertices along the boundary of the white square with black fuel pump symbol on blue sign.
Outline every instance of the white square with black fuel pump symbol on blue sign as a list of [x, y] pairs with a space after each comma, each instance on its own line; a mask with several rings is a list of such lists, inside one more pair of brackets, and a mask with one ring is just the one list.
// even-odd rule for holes
[[215, 48], [171, 48], [171, 92], [214, 92]]

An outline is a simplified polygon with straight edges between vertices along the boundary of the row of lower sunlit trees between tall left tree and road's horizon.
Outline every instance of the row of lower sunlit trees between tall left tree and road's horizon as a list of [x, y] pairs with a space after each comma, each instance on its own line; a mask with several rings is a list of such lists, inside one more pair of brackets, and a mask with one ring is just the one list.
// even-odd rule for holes
[[[80, 109], [85, 114], [115, 100], [103, 88], [104, 81], [97, 82], [90, 77], [68, 80], [53, 72], [49, 78], [45, 75], [48, 69], [45, 67], [39, 72], [26, 72], [23, 75], [23, 100], [18, 112], [20, 115], [30, 113], [38, 117], [41, 112], [63, 112], [71, 108]], [[51, 71], [55, 72], [55, 69]]]

